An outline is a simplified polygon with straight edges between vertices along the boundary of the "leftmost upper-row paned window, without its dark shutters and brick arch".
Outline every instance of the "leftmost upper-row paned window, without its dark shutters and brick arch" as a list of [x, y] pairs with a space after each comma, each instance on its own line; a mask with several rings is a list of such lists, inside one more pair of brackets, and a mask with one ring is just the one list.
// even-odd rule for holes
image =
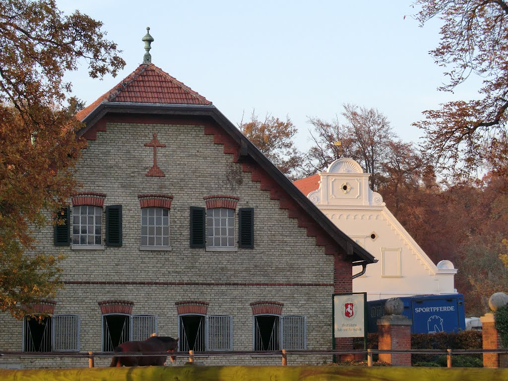
[[102, 208], [93, 205], [75, 206], [72, 212], [72, 243], [102, 244]]

